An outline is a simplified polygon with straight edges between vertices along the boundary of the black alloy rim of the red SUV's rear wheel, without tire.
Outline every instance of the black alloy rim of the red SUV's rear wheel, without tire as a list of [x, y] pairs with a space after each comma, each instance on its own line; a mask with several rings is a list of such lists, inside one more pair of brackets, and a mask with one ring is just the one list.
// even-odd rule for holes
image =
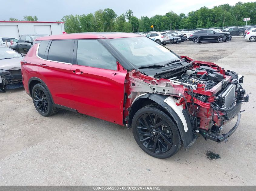
[[35, 106], [40, 112], [46, 113], [48, 111], [48, 98], [41, 88], [35, 89], [33, 99], [35, 101]]

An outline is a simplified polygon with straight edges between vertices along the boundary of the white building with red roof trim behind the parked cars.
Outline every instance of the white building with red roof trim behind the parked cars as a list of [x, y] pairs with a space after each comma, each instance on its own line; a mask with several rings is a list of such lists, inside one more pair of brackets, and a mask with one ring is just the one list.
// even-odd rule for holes
[[0, 38], [18, 38], [23, 34], [62, 34], [64, 22], [0, 21]]

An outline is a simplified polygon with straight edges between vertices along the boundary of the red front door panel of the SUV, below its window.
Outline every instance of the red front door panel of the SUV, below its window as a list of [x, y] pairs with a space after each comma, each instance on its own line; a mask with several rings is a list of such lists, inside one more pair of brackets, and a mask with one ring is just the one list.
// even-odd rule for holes
[[[124, 83], [127, 71], [72, 65], [71, 83], [79, 113], [123, 125]], [[81, 74], [81, 72], [83, 72]]]

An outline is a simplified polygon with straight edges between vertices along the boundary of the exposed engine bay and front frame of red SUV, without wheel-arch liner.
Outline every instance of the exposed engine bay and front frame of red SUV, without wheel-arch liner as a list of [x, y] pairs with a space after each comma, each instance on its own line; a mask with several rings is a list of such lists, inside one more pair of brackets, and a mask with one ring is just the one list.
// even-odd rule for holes
[[[249, 100], [249, 95], [245, 95], [242, 88], [243, 76], [225, 71], [211, 62], [194, 61], [185, 56], [181, 58], [190, 64], [155, 76], [131, 71], [126, 86], [125, 108], [130, 108], [145, 94], [169, 95], [175, 99], [176, 106], [188, 111], [193, 133], [200, 133], [205, 139], [216, 142], [227, 140], [229, 135], [218, 133], [227, 121], [241, 116], [241, 104]], [[124, 114], [128, 120], [129, 109]], [[186, 124], [183, 125], [185, 128]]]

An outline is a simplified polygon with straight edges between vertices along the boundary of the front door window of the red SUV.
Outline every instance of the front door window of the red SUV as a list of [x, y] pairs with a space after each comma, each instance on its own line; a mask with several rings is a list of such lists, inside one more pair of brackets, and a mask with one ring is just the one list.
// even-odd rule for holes
[[77, 64], [117, 70], [115, 57], [98, 40], [78, 40]]

